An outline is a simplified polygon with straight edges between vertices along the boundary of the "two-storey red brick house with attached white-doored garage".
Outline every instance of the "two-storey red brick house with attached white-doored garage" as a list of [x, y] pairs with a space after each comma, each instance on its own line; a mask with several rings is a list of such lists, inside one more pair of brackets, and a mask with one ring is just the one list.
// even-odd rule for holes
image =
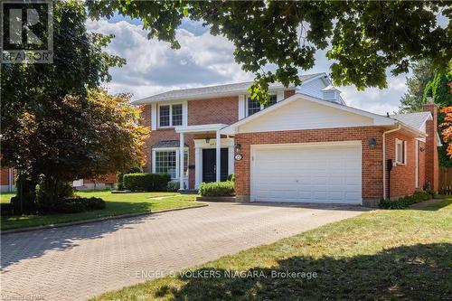
[[346, 106], [325, 73], [300, 80], [270, 85], [265, 108], [247, 95], [250, 82], [134, 101], [152, 130], [146, 171], [171, 174], [184, 189], [235, 174], [243, 202], [375, 205], [389, 193], [438, 190], [433, 104], [384, 117]]

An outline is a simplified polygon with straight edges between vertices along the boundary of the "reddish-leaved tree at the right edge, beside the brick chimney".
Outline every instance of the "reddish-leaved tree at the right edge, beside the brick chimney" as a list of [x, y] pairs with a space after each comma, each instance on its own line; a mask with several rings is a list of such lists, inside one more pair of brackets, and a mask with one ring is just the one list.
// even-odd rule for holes
[[[452, 61], [450, 62], [452, 64]], [[441, 113], [441, 108], [446, 108], [452, 106], [452, 69], [449, 69], [447, 73], [437, 73], [433, 80], [430, 80], [427, 84], [424, 93], [424, 99], [431, 97], [433, 103], [435, 103], [438, 108], [440, 108], [440, 113], [438, 113], [438, 125], [446, 122], [445, 114]], [[440, 128], [440, 127], [439, 127]], [[439, 130], [438, 128], [438, 130]], [[444, 131], [439, 131], [439, 138], [443, 146], [438, 148], [439, 165], [441, 166], [452, 166], [452, 158], [447, 155], [447, 140], [443, 135]]]

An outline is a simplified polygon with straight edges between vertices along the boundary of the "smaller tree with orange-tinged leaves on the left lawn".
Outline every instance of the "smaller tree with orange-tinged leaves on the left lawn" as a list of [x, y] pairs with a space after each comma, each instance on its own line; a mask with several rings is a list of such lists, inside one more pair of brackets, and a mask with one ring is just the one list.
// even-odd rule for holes
[[128, 95], [111, 96], [106, 89], [89, 89], [87, 98], [68, 94], [43, 112], [24, 113], [14, 135], [21, 146], [14, 157], [33, 178], [41, 176], [40, 205], [49, 209], [60, 202], [63, 183], [73, 179], [143, 165], [147, 130], [136, 124], [139, 114]]

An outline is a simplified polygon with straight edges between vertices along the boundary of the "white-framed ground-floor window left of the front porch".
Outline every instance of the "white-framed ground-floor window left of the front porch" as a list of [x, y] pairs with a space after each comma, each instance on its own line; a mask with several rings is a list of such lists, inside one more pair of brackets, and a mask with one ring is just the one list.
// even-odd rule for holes
[[[179, 150], [155, 151], [155, 174], [169, 174], [179, 178]], [[184, 176], [188, 176], [188, 151], [184, 151]]]

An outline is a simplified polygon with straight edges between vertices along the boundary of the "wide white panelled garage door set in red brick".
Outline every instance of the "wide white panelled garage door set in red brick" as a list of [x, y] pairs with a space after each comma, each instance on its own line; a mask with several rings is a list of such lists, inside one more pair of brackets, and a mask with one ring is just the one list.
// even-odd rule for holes
[[362, 203], [361, 142], [251, 146], [252, 202]]

